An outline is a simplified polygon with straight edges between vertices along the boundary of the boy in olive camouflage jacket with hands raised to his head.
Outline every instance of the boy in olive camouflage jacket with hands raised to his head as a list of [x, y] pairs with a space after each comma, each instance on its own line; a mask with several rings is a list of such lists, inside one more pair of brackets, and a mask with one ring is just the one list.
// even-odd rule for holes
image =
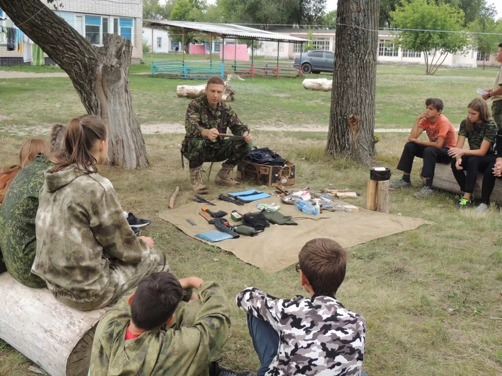
[[[199, 299], [175, 312], [181, 288], [197, 289]], [[178, 281], [171, 273], [154, 273], [101, 318], [94, 334], [89, 373], [236, 376], [211, 364], [229, 331], [230, 308], [216, 282], [197, 277]]]

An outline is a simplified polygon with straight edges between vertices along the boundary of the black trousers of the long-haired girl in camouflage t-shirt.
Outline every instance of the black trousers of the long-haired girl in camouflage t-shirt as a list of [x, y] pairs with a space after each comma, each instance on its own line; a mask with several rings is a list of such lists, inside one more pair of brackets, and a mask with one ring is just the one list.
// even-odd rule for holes
[[[460, 191], [472, 194], [477, 179], [477, 173], [484, 172], [489, 166], [492, 166], [494, 162], [495, 157], [491, 155], [462, 155], [462, 163], [460, 166], [462, 166], [463, 169], [457, 170], [457, 167], [455, 167], [456, 159], [453, 159], [451, 161], [451, 170], [453, 171], [455, 180], [457, 180], [460, 186]], [[495, 183], [493, 182], [493, 184]], [[493, 190], [493, 186], [491, 189]]]

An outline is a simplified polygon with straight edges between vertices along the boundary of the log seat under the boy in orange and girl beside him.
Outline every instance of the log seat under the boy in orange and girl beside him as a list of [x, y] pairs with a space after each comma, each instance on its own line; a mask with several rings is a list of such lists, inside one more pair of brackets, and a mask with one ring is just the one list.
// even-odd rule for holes
[[[476, 184], [474, 185], [474, 199], [479, 199], [481, 197], [482, 181], [483, 174], [479, 172], [477, 175]], [[443, 191], [448, 191], [459, 195], [461, 194], [457, 180], [455, 180], [455, 176], [453, 176], [453, 172], [451, 171], [450, 163], [436, 163], [432, 185], [434, 188], [438, 188]], [[495, 179], [495, 186], [493, 187], [490, 201], [499, 205], [502, 204], [502, 179]]]

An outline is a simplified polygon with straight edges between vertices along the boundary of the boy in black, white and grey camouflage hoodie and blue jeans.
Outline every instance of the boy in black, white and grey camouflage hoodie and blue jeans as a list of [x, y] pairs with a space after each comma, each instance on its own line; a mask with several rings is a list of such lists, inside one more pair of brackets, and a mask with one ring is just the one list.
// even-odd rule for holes
[[335, 298], [346, 258], [335, 241], [313, 239], [296, 265], [310, 298], [278, 299], [254, 287], [237, 294], [262, 363], [258, 376], [365, 376], [366, 322]]

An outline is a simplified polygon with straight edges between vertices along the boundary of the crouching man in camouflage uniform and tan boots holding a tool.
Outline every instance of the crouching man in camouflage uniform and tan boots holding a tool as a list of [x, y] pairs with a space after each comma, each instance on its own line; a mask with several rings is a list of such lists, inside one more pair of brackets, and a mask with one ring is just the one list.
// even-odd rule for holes
[[[206, 95], [188, 105], [185, 129], [186, 135], [181, 147], [182, 155], [190, 165], [190, 183], [197, 194], [206, 193], [202, 184], [201, 166], [204, 162], [226, 161], [216, 174], [215, 182], [237, 186], [239, 182], [231, 177], [233, 167], [251, 150], [252, 137], [247, 128], [230, 106], [221, 101], [225, 86], [219, 77], [207, 81]], [[219, 133], [227, 128], [233, 135], [245, 136], [244, 140], [222, 139]]]

